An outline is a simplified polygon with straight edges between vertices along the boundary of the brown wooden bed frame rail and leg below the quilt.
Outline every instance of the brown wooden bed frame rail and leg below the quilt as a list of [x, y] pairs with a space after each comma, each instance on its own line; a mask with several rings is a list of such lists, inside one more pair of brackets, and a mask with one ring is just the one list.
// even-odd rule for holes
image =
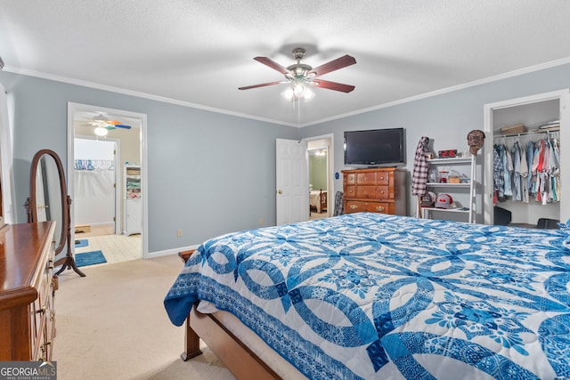
[[[183, 263], [186, 263], [193, 253], [192, 249], [180, 252], [178, 255]], [[237, 379], [281, 379], [281, 376], [249, 350], [219, 320], [211, 314], [197, 311], [195, 305], [184, 326], [186, 327], [184, 352], [180, 355], [182, 360], [190, 360], [202, 353], [199, 349], [201, 338]]]

